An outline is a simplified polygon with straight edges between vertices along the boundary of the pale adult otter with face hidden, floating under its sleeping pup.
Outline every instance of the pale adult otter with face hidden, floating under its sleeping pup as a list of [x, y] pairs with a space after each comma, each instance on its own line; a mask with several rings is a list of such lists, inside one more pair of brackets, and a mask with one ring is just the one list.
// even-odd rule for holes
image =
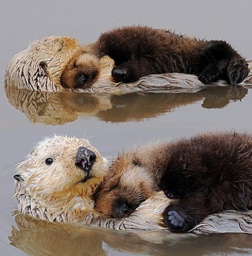
[[[84, 48], [84, 50], [83, 50]], [[94, 69], [93, 57], [81, 58], [86, 46], [80, 47], [76, 39], [69, 37], [47, 37], [44, 40], [32, 43], [26, 50], [16, 54], [6, 67], [5, 85], [29, 90], [41, 90], [47, 92], [56, 92], [59, 90], [88, 92], [88, 93], [110, 93], [125, 94], [132, 92], [150, 92], [150, 91], [176, 91], [178, 89], [195, 90], [204, 88], [206, 85], [200, 82], [194, 75], [183, 73], [165, 73], [159, 75], [150, 75], [142, 77], [137, 82], [129, 84], [117, 83], [111, 76], [114, 67], [114, 61], [107, 56], [99, 60], [99, 72], [97, 79], [94, 77], [94, 84], [89, 82], [88, 88], [63, 88], [60, 82], [62, 71], [68, 65], [71, 69], [71, 63], [80, 57], [80, 61], [85, 67]], [[87, 56], [87, 55], [85, 55]], [[87, 64], [88, 62], [91, 62]], [[81, 63], [81, 62], [80, 62]], [[249, 69], [252, 70], [252, 62], [249, 63]], [[83, 67], [83, 65], [81, 65]], [[66, 70], [66, 69], [65, 69]], [[85, 68], [86, 70], [86, 68]], [[252, 73], [241, 83], [243, 86], [252, 84]], [[217, 83], [213, 82], [207, 87], [225, 86], [227, 83], [223, 80]]]

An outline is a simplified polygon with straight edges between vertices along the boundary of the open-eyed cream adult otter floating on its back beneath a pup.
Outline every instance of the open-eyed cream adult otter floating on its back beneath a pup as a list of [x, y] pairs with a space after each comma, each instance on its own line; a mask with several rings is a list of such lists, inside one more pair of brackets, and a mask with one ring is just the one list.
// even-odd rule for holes
[[[90, 158], [90, 151], [95, 153], [95, 160]], [[94, 210], [93, 193], [106, 175], [107, 161], [85, 139], [48, 138], [17, 168], [14, 178], [18, 210], [47, 221], [169, 232], [162, 213], [172, 200], [163, 192], [153, 193], [127, 218], [109, 219]], [[251, 213], [238, 211], [213, 214], [192, 233], [252, 233], [251, 218]]]

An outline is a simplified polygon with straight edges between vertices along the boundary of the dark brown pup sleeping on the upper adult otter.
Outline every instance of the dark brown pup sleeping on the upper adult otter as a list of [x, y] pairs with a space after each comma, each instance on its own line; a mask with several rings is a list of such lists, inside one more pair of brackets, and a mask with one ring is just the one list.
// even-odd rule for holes
[[[113, 29], [103, 33], [94, 44], [83, 46], [83, 51], [65, 67], [63, 87], [90, 86], [89, 81], [98, 73], [93, 61], [104, 55], [115, 62], [112, 76], [116, 82], [135, 82], [150, 74], [179, 72], [197, 75], [206, 84], [225, 79], [230, 85], [237, 85], [249, 73], [246, 60], [223, 40], [198, 40], [150, 27]], [[78, 69], [72, 63], [79, 63]], [[86, 72], [86, 65], [96, 66], [97, 70]]]

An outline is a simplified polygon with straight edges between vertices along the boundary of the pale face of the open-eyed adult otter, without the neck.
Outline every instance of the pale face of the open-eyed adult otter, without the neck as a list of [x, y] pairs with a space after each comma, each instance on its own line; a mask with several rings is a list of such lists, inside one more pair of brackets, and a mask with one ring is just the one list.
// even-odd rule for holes
[[106, 159], [86, 139], [54, 136], [32, 150], [14, 178], [30, 195], [67, 194], [74, 189], [91, 194], [106, 171]]

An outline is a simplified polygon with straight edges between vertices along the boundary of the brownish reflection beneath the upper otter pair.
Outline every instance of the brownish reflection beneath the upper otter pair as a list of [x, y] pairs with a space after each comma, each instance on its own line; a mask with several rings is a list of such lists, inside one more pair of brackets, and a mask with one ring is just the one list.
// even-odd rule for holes
[[203, 101], [203, 108], [224, 108], [241, 100], [247, 89], [241, 86], [205, 88], [195, 93], [145, 93], [91, 95], [87, 93], [39, 92], [5, 86], [9, 102], [32, 122], [63, 125], [78, 117], [95, 116], [104, 121], [140, 121]]

